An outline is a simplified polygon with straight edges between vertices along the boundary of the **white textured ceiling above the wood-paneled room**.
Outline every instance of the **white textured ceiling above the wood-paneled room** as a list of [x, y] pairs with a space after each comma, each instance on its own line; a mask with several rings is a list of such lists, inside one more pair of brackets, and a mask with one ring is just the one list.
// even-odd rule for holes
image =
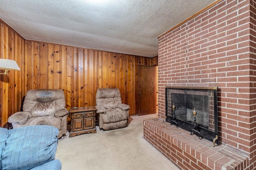
[[154, 57], [157, 37], [214, 0], [0, 0], [27, 40]]

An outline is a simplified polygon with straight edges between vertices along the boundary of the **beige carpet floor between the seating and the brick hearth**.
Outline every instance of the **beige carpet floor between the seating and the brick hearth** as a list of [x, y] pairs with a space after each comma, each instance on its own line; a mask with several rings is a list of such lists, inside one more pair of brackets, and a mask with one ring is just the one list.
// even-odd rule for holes
[[62, 170], [178, 170], [143, 137], [143, 121], [157, 114], [131, 116], [126, 128], [66, 136], [58, 143], [56, 159]]

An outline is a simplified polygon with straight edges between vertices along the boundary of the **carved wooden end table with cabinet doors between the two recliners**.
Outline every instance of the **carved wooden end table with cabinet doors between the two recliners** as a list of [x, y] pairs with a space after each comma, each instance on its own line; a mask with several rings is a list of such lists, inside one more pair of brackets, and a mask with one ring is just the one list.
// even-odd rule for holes
[[71, 117], [71, 130], [69, 137], [74, 137], [82, 133], [96, 133], [95, 116], [96, 107], [77, 107], [77, 109], [69, 110]]

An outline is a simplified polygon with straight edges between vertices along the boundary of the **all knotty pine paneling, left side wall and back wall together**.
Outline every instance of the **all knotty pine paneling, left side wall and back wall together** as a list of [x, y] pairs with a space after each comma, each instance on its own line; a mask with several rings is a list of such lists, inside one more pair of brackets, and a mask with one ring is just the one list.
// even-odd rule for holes
[[[98, 88], [117, 87], [130, 115], [138, 113], [138, 65], [156, 65], [157, 57], [25, 40], [0, 20], [0, 58], [15, 60], [21, 71], [0, 75], [0, 126], [20, 111], [29, 89], [63, 89], [66, 108], [95, 105]], [[10, 125], [10, 124], [9, 124]]]

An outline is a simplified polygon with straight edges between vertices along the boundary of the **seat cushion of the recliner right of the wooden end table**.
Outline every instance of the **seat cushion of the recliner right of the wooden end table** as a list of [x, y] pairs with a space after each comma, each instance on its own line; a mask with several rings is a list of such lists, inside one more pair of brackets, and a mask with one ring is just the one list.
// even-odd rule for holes
[[126, 111], [119, 108], [108, 109], [106, 114], [102, 115], [102, 118], [104, 123], [114, 123], [128, 119]]

